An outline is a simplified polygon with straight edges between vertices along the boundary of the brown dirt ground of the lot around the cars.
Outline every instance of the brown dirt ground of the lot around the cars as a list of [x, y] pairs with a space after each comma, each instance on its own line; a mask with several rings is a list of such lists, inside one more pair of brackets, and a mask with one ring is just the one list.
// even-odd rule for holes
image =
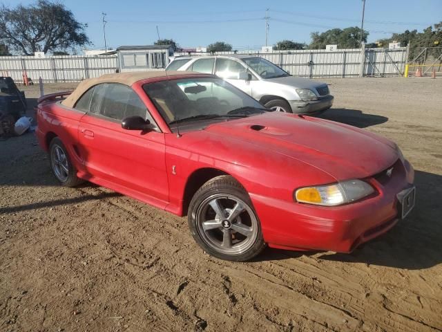
[[442, 331], [442, 80], [325, 81], [336, 99], [323, 118], [391, 138], [414, 165], [407, 219], [351, 255], [220, 261], [184, 218], [59, 187], [26, 133], [0, 141], [0, 330]]

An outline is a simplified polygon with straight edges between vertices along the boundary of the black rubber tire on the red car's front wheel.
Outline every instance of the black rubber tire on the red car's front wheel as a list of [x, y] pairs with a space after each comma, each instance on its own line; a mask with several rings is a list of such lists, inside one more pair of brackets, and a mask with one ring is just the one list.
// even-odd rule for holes
[[[223, 202], [222, 205], [217, 206], [222, 208], [221, 210], [224, 213], [223, 219], [226, 220], [221, 221], [218, 218], [219, 214], [213, 208], [209, 208], [209, 202], [213, 203], [213, 201], [218, 200]], [[229, 203], [233, 205], [231, 208], [228, 207]], [[234, 214], [233, 212], [237, 204], [241, 207], [238, 208], [238, 211], [241, 210], [242, 212], [239, 212], [238, 216], [231, 219], [229, 228], [227, 228], [227, 225], [224, 225], [224, 223], [226, 223], [227, 219], [230, 220], [229, 216]], [[206, 220], [204, 216], [210, 213], [214, 217]], [[242, 185], [231, 176], [217, 176], [204, 183], [193, 195], [187, 218], [193, 239], [205, 252], [214, 257], [228, 261], [248, 261], [258, 255], [266, 246], [262, 237], [260, 221], [250, 197]], [[218, 220], [216, 220], [217, 218]], [[209, 223], [211, 221], [219, 222], [220, 227], [204, 230], [202, 226], [204, 220]], [[240, 229], [239, 232], [237, 231], [238, 229]], [[244, 229], [250, 232], [250, 236], [242, 233]], [[223, 252], [223, 248], [220, 248], [224, 246], [224, 232], [227, 232], [230, 238], [227, 241], [229, 243], [227, 243], [224, 249], [231, 250], [231, 252]], [[217, 241], [215, 237], [222, 239]], [[235, 250], [238, 252], [234, 252]]]

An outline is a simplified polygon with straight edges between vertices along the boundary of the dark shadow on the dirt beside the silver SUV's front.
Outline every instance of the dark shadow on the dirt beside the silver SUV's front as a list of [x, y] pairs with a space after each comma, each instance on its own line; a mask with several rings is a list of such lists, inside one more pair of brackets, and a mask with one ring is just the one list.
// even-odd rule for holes
[[357, 109], [328, 109], [318, 118], [349, 124], [358, 128], [367, 128], [388, 121], [385, 116], [365, 114]]

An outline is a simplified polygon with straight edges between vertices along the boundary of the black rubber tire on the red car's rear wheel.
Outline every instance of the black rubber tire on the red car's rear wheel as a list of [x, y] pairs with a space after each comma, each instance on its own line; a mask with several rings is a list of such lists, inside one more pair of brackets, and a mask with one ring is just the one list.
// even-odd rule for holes
[[[67, 165], [68, 172], [66, 172], [67, 176], [64, 178], [64, 176], [60, 176], [60, 174], [57, 174], [57, 150], [61, 149], [63, 151], [64, 156], [66, 157], [66, 163], [64, 165]], [[58, 150], [60, 151], [60, 150]], [[50, 141], [49, 145], [49, 161], [50, 161], [50, 169], [52, 169], [52, 174], [54, 174], [55, 178], [59, 181], [61, 185], [64, 187], [75, 187], [81, 183], [84, 183], [83, 180], [77, 177], [77, 169], [75, 169], [73, 163], [70, 161], [70, 156], [68, 154], [68, 150], [64, 146], [63, 142], [58, 137], [53, 138]], [[58, 169], [61, 169], [61, 163], [58, 163]]]

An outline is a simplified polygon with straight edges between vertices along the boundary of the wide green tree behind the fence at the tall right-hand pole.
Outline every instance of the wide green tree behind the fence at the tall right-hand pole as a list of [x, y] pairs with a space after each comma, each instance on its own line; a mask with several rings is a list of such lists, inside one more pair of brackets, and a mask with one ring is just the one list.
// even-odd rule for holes
[[[368, 31], [363, 32], [363, 42], [367, 42]], [[359, 48], [361, 39], [361, 29], [352, 26], [345, 29], [334, 28], [325, 33], [311, 33], [311, 44], [309, 48], [321, 49], [326, 45], [338, 45], [338, 48]]]

